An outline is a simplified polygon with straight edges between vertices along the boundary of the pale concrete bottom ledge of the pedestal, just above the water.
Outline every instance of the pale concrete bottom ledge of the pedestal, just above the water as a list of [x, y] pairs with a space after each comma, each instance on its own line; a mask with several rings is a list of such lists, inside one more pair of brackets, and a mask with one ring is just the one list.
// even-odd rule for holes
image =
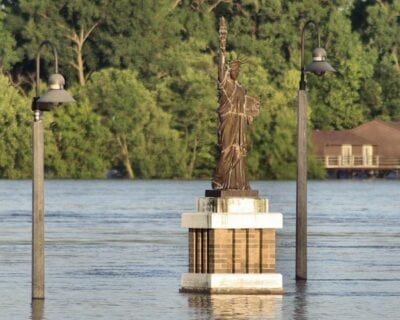
[[180, 292], [283, 294], [279, 273], [184, 273]]

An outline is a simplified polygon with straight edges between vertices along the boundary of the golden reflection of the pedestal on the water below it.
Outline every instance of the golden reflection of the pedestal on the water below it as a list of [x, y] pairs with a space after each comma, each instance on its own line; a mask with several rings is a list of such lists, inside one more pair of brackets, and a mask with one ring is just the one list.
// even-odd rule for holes
[[196, 319], [281, 319], [282, 296], [194, 295], [187, 296]]

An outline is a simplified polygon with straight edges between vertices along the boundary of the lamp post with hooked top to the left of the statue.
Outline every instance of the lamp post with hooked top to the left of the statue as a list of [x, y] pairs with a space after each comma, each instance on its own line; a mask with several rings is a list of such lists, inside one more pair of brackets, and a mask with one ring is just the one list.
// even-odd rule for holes
[[[53, 50], [55, 73], [49, 78], [49, 90], [39, 96], [40, 81], [40, 52], [47, 45]], [[65, 80], [58, 73], [58, 55], [55, 46], [44, 41], [40, 44], [36, 54], [36, 96], [32, 101], [32, 300], [44, 299], [44, 111], [51, 110], [61, 103], [68, 103], [74, 99], [64, 90]]]

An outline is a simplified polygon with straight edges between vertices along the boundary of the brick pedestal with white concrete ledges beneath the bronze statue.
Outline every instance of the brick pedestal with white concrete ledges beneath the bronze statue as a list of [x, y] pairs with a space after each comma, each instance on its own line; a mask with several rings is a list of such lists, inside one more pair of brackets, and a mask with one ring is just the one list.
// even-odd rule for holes
[[197, 213], [183, 213], [189, 229], [189, 272], [181, 292], [282, 294], [275, 272], [275, 230], [282, 214], [268, 212], [268, 200], [204, 197]]

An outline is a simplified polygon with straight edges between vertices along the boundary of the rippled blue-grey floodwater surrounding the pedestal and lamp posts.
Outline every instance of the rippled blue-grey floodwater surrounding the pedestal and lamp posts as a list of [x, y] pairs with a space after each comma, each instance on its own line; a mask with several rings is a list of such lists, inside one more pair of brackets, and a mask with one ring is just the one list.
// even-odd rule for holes
[[179, 293], [182, 212], [206, 181], [46, 181], [46, 299], [31, 305], [31, 182], [0, 180], [0, 319], [399, 319], [400, 181], [310, 181], [308, 281], [295, 182], [252, 183], [281, 212], [283, 296]]

